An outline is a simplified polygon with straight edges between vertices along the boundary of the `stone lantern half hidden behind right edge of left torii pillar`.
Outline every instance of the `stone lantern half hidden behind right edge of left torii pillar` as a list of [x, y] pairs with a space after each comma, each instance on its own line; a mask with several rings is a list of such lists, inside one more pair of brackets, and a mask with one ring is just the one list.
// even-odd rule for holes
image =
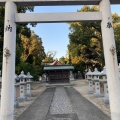
[[19, 83], [16, 82], [18, 79], [19, 78], [18, 78], [18, 76], [16, 74], [15, 75], [15, 86], [14, 86], [14, 107], [18, 107], [19, 106], [19, 102], [18, 102], [17, 96], [16, 96], [17, 87], [20, 85]]

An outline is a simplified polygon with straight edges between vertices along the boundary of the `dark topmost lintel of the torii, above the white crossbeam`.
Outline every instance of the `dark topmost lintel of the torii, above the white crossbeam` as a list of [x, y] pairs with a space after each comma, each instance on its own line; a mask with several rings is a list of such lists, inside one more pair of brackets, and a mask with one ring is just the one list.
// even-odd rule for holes
[[[0, 6], [13, 1], [18, 6], [59, 6], [59, 5], [98, 5], [101, 0], [0, 0]], [[120, 4], [120, 0], [110, 0], [111, 4]]]

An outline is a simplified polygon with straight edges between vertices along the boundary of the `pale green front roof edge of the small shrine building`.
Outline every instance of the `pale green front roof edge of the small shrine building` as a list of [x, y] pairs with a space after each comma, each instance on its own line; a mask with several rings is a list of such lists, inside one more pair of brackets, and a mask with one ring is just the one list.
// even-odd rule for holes
[[50, 70], [73, 70], [74, 66], [71, 65], [56, 65], [56, 66], [45, 66], [44, 70], [45, 71], [50, 71]]

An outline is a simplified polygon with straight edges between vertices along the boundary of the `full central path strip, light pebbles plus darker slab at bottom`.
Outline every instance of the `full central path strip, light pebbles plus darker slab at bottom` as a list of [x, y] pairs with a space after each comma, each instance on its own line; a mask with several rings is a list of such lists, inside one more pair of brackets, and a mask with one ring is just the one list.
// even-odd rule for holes
[[78, 120], [64, 87], [56, 87], [46, 120]]

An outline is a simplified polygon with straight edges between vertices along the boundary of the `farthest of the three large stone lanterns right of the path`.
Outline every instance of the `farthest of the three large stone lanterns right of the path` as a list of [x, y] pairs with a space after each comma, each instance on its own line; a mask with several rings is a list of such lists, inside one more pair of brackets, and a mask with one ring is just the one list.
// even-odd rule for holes
[[86, 73], [86, 79], [88, 80], [88, 93], [92, 94], [94, 93], [94, 89], [93, 89], [93, 81], [92, 81], [92, 73], [91, 70], [89, 69], [89, 71]]

